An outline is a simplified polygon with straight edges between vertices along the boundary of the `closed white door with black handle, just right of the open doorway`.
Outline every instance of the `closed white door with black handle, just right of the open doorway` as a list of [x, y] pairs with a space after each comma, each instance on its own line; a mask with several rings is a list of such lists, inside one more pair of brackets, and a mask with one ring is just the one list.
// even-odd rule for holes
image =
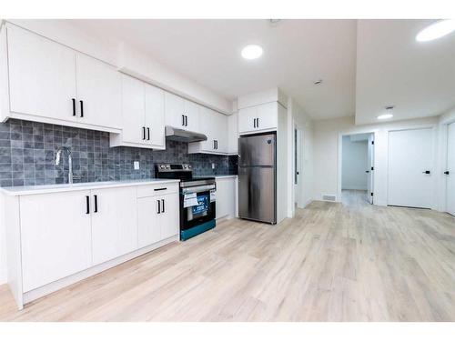
[[389, 132], [389, 205], [431, 207], [432, 160], [431, 128]]

